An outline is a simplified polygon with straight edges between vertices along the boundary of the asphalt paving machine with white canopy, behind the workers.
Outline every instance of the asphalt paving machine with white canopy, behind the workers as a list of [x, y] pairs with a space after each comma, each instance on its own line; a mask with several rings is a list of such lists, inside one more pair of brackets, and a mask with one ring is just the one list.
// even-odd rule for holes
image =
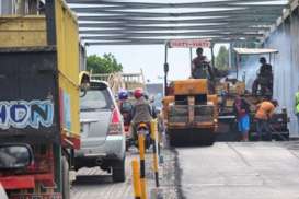
[[[275, 59], [278, 54], [277, 49], [266, 48], [234, 48], [238, 56], [238, 61], [241, 56], [261, 56], [268, 55], [267, 57]], [[275, 62], [269, 59], [269, 62]], [[241, 66], [239, 62], [237, 66]], [[237, 68], [235, 78], [226, 78], [222, 82], [218, 82], [216, 91], [219, 98], [219, 131], [218, 139], [220, 141], [238, 141], [240, 133], [238, 133], [235, 116], [233, 113], [233, 102], [238, 95], [246, 99], [251, 106], [250, 113], [250, 132], [249, 139], [254, 141], [257, 139], [256, 125], [255, 125], [255, 105], [264, 99], [273, 99], [273, 74], [267, 77], [256, 75], [253, 85], [246, 84], [246, 75], [242, 80], [238, 79], [239, 68]], [[249, 87], [252, 87], [249, 90]], [[281, 108], [274, 113], [271, 119], [272, 137], [277, 141], [289, 140], [288, 129], [289, 117], [286, 108]]]

